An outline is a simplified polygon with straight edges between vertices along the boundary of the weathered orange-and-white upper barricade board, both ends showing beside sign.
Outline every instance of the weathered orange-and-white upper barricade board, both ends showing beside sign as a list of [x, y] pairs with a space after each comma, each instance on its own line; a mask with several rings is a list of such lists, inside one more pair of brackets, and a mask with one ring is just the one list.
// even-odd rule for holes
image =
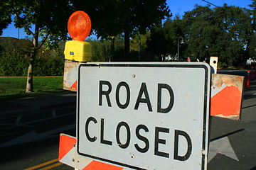
[[[77, 91], [78, 65], [65, 61], [63, 89]], [[228, 74], [212, 74], [210, 115], [240, 120], [244, 77]]]

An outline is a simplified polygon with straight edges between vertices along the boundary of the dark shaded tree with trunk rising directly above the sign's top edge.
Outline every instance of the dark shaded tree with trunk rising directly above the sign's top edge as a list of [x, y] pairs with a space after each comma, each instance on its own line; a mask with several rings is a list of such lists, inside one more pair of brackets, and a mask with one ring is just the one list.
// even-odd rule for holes
[[77, 10], [88, 13], [92, 19], [93, 29], [102, 38], [124, 33], [124, 56], [129, 60], [130, 36], [146, 33], [162, 19], [170, 16], [166, 0], [73, 0], [72, 4]]

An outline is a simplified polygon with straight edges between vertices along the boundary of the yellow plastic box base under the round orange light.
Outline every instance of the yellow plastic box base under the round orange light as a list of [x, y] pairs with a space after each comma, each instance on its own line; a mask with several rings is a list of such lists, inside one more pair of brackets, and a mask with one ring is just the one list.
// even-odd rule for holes
[[90, 62], [92, 57], [92, 46], [89, 42], [70, 40], [65, 42], [65, 60], [76, 62]]

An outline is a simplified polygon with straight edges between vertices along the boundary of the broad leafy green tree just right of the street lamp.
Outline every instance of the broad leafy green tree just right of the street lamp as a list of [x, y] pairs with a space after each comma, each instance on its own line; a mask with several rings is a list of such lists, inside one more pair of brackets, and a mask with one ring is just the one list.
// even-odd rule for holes
[[192, 57], [218, 56], [228, 65], [245, 61], [245, 47], [251, 30], [245, 8], [196, 6], [183, 16], [188, 52]]

